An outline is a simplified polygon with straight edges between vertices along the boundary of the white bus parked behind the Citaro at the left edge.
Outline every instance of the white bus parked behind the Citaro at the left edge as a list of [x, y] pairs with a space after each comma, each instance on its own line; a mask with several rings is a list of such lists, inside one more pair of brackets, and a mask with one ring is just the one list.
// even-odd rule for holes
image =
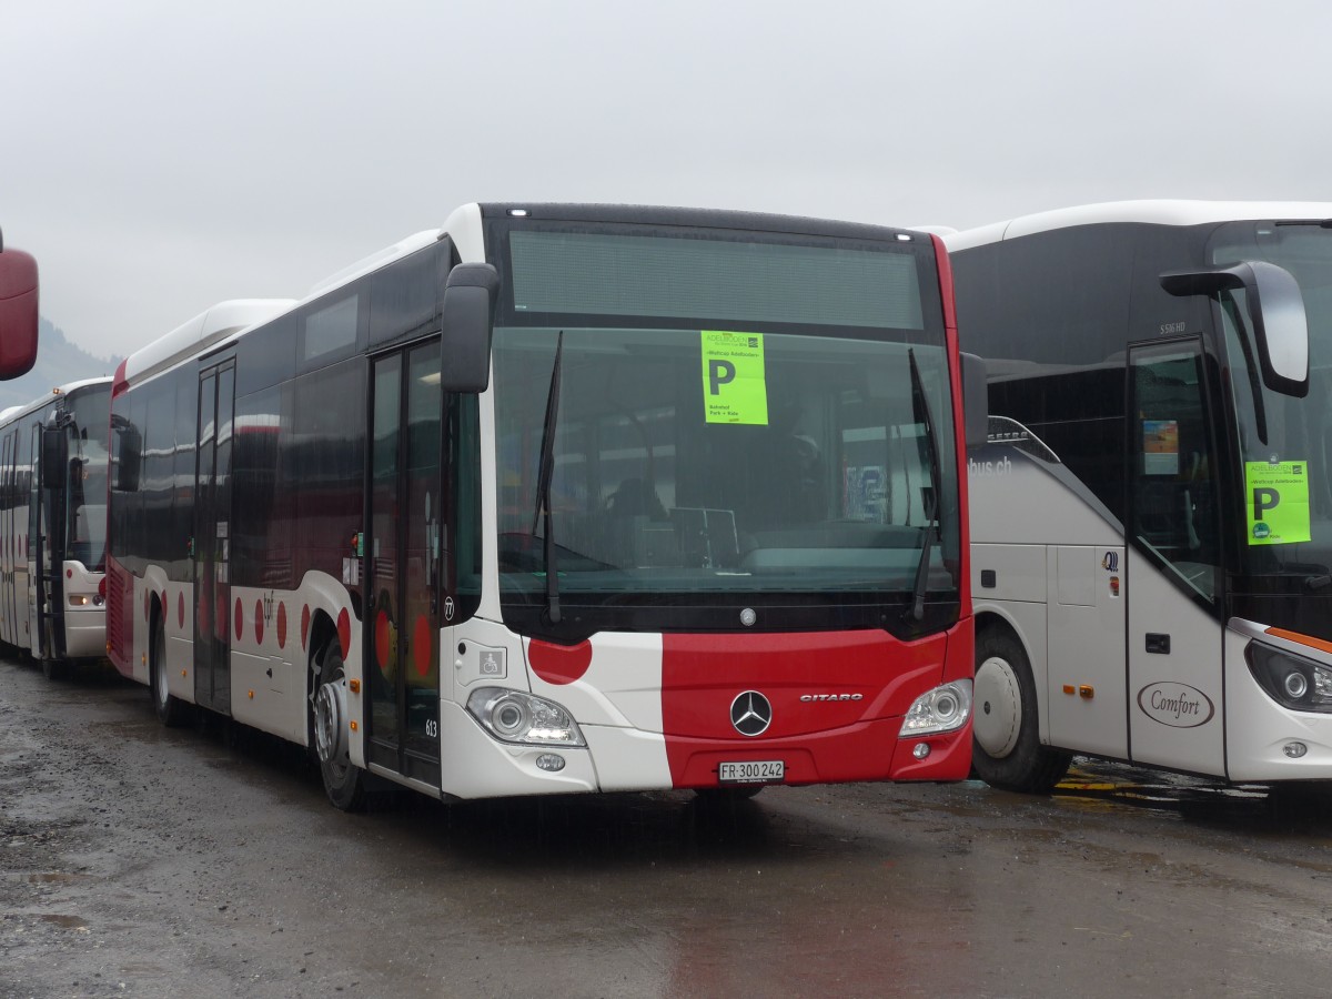
[[105, 655], [111, 378], [0, 413], [0, 642], [48, 678]]

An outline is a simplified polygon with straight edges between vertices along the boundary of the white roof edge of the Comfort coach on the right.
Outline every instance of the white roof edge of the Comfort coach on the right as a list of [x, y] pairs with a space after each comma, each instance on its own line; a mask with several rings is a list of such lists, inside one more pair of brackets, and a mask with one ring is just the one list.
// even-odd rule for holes
[[1052, 229], [1103, 222], [1143, 222], [1147, 225], [1204, 225], [1236, 220], [1332, 218], [1332, 201], [1106, 201], [1095, 205], [1060, 208], [992, 222], [944, 236], [950, 252], [984, 246], [999, 240], [1015, 240]]

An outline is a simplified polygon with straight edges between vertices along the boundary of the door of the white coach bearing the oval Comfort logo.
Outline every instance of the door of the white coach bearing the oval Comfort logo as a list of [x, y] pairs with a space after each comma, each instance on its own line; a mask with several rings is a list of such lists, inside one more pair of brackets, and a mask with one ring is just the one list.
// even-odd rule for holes
[[1221, 533], [1201, 346], [1131, 345], [1128, 370], [1131, 757], [1224, 774]]

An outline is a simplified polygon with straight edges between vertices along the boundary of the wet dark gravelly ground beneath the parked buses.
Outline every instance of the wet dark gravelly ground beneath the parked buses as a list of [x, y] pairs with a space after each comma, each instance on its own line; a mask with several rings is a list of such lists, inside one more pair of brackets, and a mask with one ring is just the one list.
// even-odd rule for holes
[[1324, 996], [1332, 791], [978, 782], [345, 815], [304, 751], [0, 661], [0, 996]]

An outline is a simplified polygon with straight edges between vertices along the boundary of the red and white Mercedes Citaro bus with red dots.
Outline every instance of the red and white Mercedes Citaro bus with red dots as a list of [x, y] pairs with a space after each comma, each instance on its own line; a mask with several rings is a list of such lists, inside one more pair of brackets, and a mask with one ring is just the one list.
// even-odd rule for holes
[[962, 779], [959, 365], [923, 233], [466, 205], [125, 361], [111, 657], [342, 809]]

